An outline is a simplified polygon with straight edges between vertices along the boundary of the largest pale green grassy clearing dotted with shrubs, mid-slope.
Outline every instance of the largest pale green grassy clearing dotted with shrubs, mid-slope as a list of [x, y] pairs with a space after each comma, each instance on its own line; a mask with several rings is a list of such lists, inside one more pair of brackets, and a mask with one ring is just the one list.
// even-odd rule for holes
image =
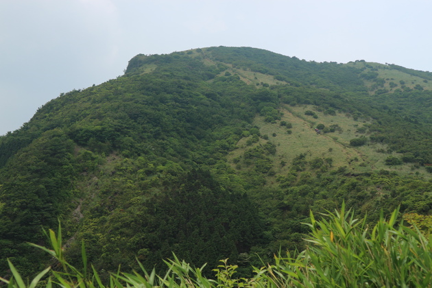
[[[359, 138], [360, 136], [368, 136], [368, 131], [361, 134], [357, 132], [357, 128], [363, 125], [368, 125], [369, 121], [366, 119], [358, 119], [355, 121], [349, 115], [337, 113], [335, 116], [324, 115], [318, 112], [313, 106], [285, 106], [281, 109], [283, 117], [281, 121], [286, 121], [292, 124], [292, 134], [287, 133], [287, 128], [278, 123], [268, 123], [263, 120], [263, 117], [256, 117], [254, 125], [260, 128], [261, 135], [267, 135], [269, 141], [273, 142], [276, 148], [276, 154], [272, 156], [274, 161], [274, 171], [276, 176], [278, 174], [287, 173], [289, 165], [280, 167], [280, 162], [285, 161], [291, 163], [294, 157], [299, 154], [307, 154], [308, 160], [316, 157], [320, 158], [333, 158], [333, 167], [347, 167], [347, 173], [365, 173], [371, 171], [379, 171], [381, 169], [396, 171], [401, 175], [423, 176], [424, 178], [431, 178], [431, 174], [421, 167], [414, 169], [412, 164], [387, 166], [385, 165], [385, 158], [387, 156], [400, 156], [400, 154], [383, 153], [380, 151], [387, 151], [386, 145], [371, 144], [363, 145], [361, 147], [350, 146], [350, 139]], [[311, 116], [304, 115], [306, 110], [315, 110], [317, 119]], [[341, 132], [333, 132], [327, 134], [317, 134], [314, 129], [317, 124], [324, 124], [326, 127], [337, 124], [341, 128]], [[276, 134], [276, 136], [273, 136]], [[252, 137], [252, 136], [250, 136]], [[232, 163], [232, 159], [241, 156], [246, 149], [250, 146], [246, 145], [249, 138], [243, 138], [239, 141], [236, 149], [230, 154], [228, 160]], [[260, 143], [266, 141], [260, 139]], [[235, 167], [235, 164], [232, 164]]]

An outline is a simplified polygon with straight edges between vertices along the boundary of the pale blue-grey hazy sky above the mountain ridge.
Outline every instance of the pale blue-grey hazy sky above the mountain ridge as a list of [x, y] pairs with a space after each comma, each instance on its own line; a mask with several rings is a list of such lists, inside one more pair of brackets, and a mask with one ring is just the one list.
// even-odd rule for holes
[[248, 46], [432, 71], [429, 0], [0, 0], [0, 135], [138, 53]]

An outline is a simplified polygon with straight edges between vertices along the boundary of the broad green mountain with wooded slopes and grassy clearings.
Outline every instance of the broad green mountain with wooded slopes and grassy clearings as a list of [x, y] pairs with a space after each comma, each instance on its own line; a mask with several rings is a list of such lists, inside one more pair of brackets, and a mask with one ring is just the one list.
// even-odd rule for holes
[[101, 275], [302, 250], [309, 211], [432, 212], [432, 73], [249, 47], [138, 55], [0, 137], [0, 276], [60, 221]]

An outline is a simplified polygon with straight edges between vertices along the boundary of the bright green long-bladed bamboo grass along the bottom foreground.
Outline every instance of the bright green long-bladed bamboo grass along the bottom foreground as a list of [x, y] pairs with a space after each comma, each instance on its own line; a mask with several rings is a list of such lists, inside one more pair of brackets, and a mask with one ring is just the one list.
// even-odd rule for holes
[[[56, 236], [49, 230], [51, 250], [34, 245], [53, 256], [53, 266], [27, 281], [9, 261], [13, 276], [0, 278], [8, 287], [431, 287], [432, 242], [416, 227], [398, 222], [398, 210], [389, 219], [381, 215], [368, 227], [366, 219], [341, 211], [320, 215], [311, 213], [311, 233], [306, 250], [275, 256], [273, 264], [254, 267], [252, 278], [237, 278], [237, 265], [221, 261], [215, 276], [203, 276], [203, 267], [191, 267], [175, 255], [165, 261], [165, 274], [141, 269], [132, 274], [111, 272], [104, 282], [99, 272], [88, 265], [84, 243], [83, 268], [70, 265], [64, 257], [61, 229]], [[28, 283], [29, 282], [29, 283]]]

